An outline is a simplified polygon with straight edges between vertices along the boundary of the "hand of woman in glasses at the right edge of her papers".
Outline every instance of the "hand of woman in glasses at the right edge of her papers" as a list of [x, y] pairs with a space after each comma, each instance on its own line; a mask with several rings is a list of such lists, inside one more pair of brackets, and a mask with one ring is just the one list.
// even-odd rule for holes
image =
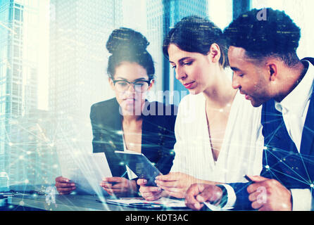
[[101, 181], [100, 186], [108, 192], [109, 195], [117, 197], [127, 197], [137, 193], [136, 181], [125, 179], [124, 177], [106, 177]]

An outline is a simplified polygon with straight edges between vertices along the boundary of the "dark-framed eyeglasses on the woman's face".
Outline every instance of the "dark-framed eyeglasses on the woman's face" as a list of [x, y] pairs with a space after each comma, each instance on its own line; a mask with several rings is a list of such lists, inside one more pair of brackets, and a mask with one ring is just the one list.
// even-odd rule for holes
[[129, 82], [126, 79], [113, 79], [113, 85], [117, 91], [123, 92], [129, 89], [130, 84], [133, 84], [134, 90], [137, 92], [145, 92], [149, 89], [152, 79], [138, 80], [136, 82]]

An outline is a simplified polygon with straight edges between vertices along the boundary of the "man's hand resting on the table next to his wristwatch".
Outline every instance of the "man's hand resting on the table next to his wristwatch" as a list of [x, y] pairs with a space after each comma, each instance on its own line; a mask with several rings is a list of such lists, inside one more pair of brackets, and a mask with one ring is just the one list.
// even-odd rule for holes
[[218, 205], [221, 199], [220, 187], [211, 184], [192, 184], [185, 195], [185, 205], [192, 210], [201, 210], [204, 202]]

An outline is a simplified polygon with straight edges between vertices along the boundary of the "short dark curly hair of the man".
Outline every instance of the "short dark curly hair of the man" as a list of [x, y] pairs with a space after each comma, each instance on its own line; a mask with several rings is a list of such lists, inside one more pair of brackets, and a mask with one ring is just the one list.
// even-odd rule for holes
[[295, 65], [299, 62], [296, 49], [301, 37], [300, 28], [284, 11], [272, 8], [264, 8], [266, 20], [258, 20], [261, 10], [254, 8], [243, 13], [225, 28], [228, 44], [245, 49], [249, 58], [261, 60], [273, 56], [286, 65]]

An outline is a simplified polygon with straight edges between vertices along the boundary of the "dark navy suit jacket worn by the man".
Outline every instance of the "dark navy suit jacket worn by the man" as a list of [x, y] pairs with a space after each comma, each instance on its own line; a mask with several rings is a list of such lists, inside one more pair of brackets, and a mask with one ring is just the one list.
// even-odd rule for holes
[[[314, 181], [314, 95], [304, 124], [300, 153], [291, 140], [282, 113], [275, 109], [275, 101], [263, 104], [262, 120], [264, 150], [263, 170], [260, 176], [280, 181], [286, 188], [309, 188]], [[247, 184], [230, 184], [237, 194], [236, 210], [253, 210], [246, 191]]]

